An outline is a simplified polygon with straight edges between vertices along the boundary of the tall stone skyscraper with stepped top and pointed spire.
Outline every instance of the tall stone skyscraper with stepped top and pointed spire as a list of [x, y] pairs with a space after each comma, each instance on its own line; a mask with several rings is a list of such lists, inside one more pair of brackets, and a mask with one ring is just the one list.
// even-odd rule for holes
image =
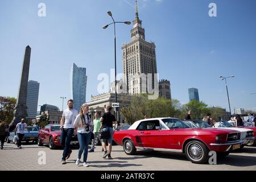
[[[135, 20], [131, 29], [131, 42], [122, 46], [123, 82], [130, 94], [148, 91], [154, 88], [154, 73], [157, 73], [155, 44], [145, 40], [145, 30], [139, 19], [137, 1], [135, 1]], [[147, 74], [152, 74], [152, 82], [147, 82]], [[151, 86], [147, 86], [147, 85]]]

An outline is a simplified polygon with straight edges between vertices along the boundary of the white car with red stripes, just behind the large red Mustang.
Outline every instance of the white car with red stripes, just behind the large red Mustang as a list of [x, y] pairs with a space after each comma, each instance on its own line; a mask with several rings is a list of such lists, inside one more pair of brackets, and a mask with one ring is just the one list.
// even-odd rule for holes
[[243, 140], [242, 147], [245, 146], [245, 144], [254, 143], [254, 130], [245, 129], [241, 127], [233, 127], [228, 121], [216, 122], [213, 127], [240, 131], [241, 139]]

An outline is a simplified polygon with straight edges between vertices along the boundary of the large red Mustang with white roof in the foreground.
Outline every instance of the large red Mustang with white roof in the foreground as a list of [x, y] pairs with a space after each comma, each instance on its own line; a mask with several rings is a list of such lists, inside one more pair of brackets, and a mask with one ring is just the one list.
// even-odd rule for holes
[[135, 122], [128, 130], [114, 133], [115, 143], [123, 146], [127, 155], [137, 149], [185, 153], [192, 163], [205, 163], [209, 151], [226, 156], [240, 148], [239, 131], [229, 129], [192, 129], [176, 118], [151, 118]]

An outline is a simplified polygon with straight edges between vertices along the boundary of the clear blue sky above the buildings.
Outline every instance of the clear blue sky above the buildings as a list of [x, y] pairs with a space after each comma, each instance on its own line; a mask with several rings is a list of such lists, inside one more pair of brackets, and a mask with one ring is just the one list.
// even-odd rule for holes
[[[46, 17], [38, 4], [46, 3]], [[217, 17], [209, 17], [209, 3]], [[32, 48], [29, 80], [40, 82], [39, 105], [62, 107], [70, 96], [69, 72], [75, 62], [86, 67], [86, 101], [97, 93], [100, 73], [114, 68], [113, 27], [116, 20], [134, 20], [134, 0], [1, 0], [0, 96], [16, 97], [24, 49]], [[228, 79], [234, 107], [256, 110], [256, 1], [138, 0], [146, 40], [155, 42], [159, 78], [171, 81], [172, 98], [188, 102], [188, 88], [200, 100], [228, 109]], [[117, 71], [122, 72], [121, 45], [130, 41], [131, 26], [117, 26]]]

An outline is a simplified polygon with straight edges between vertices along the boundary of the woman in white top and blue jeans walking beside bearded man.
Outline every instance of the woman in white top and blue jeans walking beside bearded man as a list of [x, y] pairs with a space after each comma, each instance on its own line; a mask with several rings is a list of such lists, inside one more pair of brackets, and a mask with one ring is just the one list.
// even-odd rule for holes
[[82, 152], [84, 152], [84, 167], [89, 167], [89, 164], [86, 163], [86, 160], [88, 155], [88, 146], [93, 132], [93, 122], [89, 117], [88, 110], [89, 106], [83, 104], [80, 113], [77, 115], [74, 122], [74, 126], [77, 127], [77, 138], [79, 139], [80, 145], [76, 165], [80, 164]]

